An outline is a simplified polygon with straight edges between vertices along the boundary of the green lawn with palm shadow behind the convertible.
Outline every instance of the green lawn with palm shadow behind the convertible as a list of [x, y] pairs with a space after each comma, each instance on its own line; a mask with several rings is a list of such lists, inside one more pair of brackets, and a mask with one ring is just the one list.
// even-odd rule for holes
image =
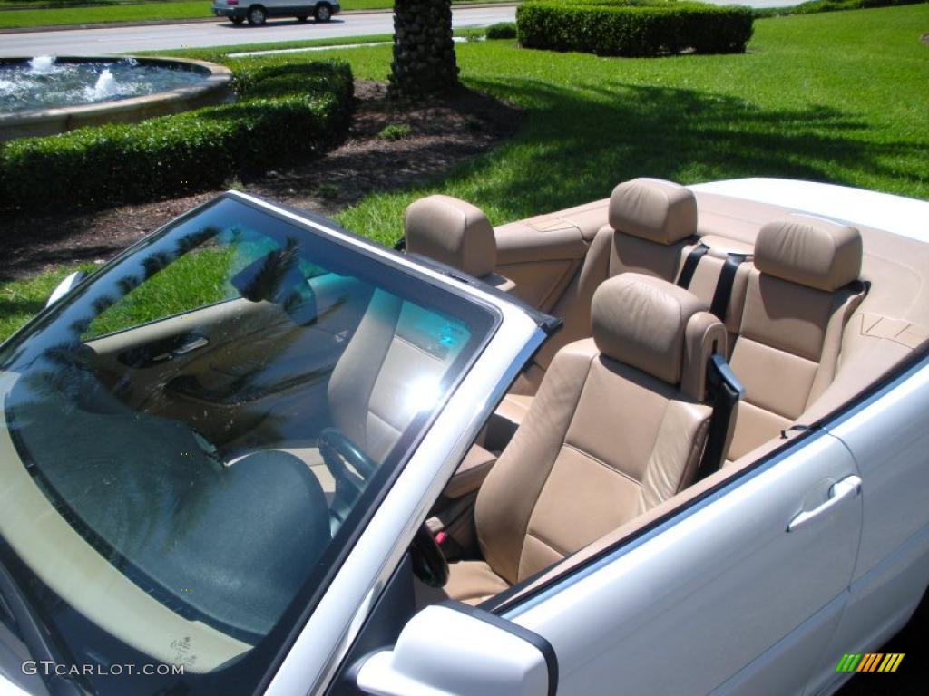
[[[522, 130], [429, 186], [362, 200], [340, 222], [392, 243], [407, 204], [431, 192], [471, 200], [501, 224], [605, 198], [638, 175], [788, 176], [929, 199], [926, 32], [929, 6], [916, 5], [762, 19], [749, 52], [734, 56], [596, 58], [511, 41], [459, 44], [464, 84], [526, 110]], [[261, 59], [326, 56], [383, 80], [390, 47]], [[0, 285], [0, 336], [30, 314], [8, 298], [35, 311], [42, 283], [53, 285], [45, 277]]]

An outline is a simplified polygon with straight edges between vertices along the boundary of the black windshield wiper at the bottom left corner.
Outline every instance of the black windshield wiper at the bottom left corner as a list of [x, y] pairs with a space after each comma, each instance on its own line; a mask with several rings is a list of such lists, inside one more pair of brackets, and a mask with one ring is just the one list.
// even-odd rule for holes
[[[33, 660], [61, 664], [59, 650], [49, 636], [45, 623], [3, 565], [0, 565], [0, 605], [15, 622], [16, 628], [19, 629], [17, 635]], [[44, 670], [40, 670], [39, 674], [49, 692], [55, 696], [83, 696], [86, 693], [95, 693], [89, 684], [83, 681], [77, 683], [70, 675], [57, 675], [54, 670], [47, 675]]]

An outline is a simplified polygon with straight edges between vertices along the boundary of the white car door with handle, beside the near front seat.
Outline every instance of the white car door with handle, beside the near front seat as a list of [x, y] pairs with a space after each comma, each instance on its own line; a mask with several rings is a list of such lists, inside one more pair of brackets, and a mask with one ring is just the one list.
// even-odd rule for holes
[[847, 599], [857, 483], [808, 433], [504, 617], [552, 644], [561, 693], [798, 693]]

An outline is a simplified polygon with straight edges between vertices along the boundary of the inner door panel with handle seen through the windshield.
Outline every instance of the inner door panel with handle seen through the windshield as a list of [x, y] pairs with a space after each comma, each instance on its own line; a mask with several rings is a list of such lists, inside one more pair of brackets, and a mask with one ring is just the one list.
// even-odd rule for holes
[[[179, 419], [217, 445], [248, 433], [249, 446], [316, 432], [285, 432], [277, 416], [322, 423], [326, 384], [370, 298], [351, 278], [309, 281], [314, 315], [298, 323], [276, 303], [229, 300], [87, 343], [95, 367], [123, 375], [126, 406]], [[274, 356], [274, 360], [269, 358]], [[128, 368], [128, 369], [127, 369]], [[294, 427], [302, 428], [294, 423]]]

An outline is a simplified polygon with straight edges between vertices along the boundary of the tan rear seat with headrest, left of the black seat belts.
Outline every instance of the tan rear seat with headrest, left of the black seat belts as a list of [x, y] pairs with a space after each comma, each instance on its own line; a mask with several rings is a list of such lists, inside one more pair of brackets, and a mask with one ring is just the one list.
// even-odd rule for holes
[[697, 201], [688, 188], [670, 181], [633, 179], [610, 194], [608, 221], [551, 310], [564, 326], [535, 356], [543, 369], [562, 346], [590, 336], [591, 303], [604, 280], [627, 272], [674, 280], [688, 240], [697, 233]]

